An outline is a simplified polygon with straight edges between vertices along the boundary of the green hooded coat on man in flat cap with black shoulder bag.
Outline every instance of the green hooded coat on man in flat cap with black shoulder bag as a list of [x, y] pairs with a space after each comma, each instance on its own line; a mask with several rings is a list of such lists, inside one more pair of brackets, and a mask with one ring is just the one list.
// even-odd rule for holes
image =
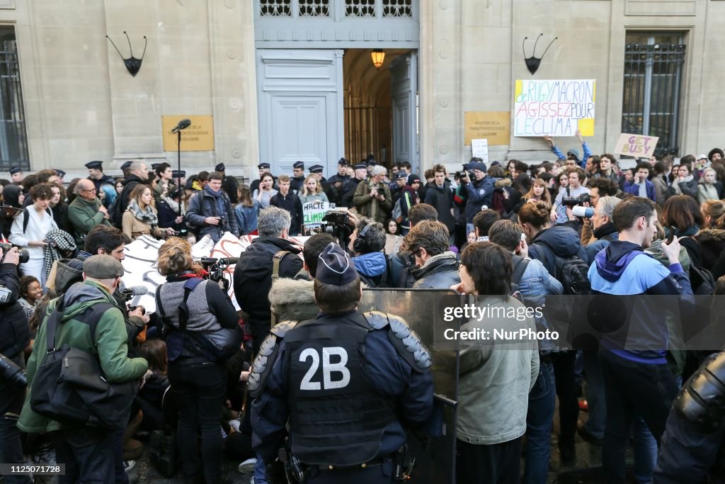
[[[57, 348], [67, 344], [71, 348], [98, 355], [101, 371], [109, 382], [128, 382], [141, 378], [146, 373], [149, 364], [144, 358], [128, 358], [127, 334], [120, 308], [109, 308], [103, 313], [96, 326], [96, 343], [92, 343], [90, 327], [86, 321], [83, 321], [83, 316], [86, 310], [94, 304], [115, 305], [112, 295], [105, 287], [93, 281], [78, 282], [70, 287], [63, 298], [65, 298], [66, 310], [56, 332], [55, 345]], [[48, 325], [45, 323], [58, 302], [59, 300], [53, 300], [48, 305], [43, 323], [38, 329], [38, 336], [33, 344], [33, 353], [28, 359], [26, 369], [28, 388], [32, 388], [33, 377], [46, 356]], [[36, 414], [33, 409], [30, 409], [31, 394], [32, 391], [29, 391], [17, 422], [20, 430], [25, 432], [59, 430], [61, 428], [59, 422]]]

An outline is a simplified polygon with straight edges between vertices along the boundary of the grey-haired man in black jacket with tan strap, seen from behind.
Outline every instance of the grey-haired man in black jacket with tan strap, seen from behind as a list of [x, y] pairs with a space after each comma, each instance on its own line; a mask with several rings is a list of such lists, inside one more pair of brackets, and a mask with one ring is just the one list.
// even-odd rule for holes
[[260, 237], [239, 255], [234, 269], [234, 295], [239, 308], [248, 315], [246, 322], [252, 333], [254, 354], [270, 331], [272, 312], [268, 296], [273, 278], [294, 277], [302, 268], [302, 259], [297, 257], [301, 250], [288, 239], [289, 223], [287, 210], [268, 207], [260, 211]]

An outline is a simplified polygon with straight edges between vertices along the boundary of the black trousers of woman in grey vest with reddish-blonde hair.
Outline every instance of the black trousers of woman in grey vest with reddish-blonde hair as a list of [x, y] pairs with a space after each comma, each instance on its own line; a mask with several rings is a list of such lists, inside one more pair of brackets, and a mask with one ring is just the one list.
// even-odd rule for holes
[[[220, 421], [226, 396], [226, 366], [222, 363], [178, 358], [169, 364], [171, 391], [178, 402], [176, 441], [184, 477], [200, 477], [204, 463], [207, 484], [219, 483], [222, 472]], [[199, 461], [199, 430], [202, 461]]]

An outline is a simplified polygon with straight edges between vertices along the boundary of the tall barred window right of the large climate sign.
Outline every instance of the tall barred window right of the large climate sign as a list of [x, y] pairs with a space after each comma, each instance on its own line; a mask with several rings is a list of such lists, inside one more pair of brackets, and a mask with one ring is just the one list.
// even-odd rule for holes
[[682, 33], [627, 33], [622, 132], [659, 136], [656, 155], [679, 154], [684, 54]]

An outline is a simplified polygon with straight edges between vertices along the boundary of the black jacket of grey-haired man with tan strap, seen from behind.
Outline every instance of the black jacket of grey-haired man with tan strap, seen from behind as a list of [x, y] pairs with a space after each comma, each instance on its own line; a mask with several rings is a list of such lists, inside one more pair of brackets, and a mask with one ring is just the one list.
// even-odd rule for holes
[[239, 308], [247, 313], [245, 323], [249, 323], [255, 343], [261, 343], [270, 330], [272, 258], [280, 250], [291, 253], [285, 255], [280, 263], [280, 278], [294, 277], [302, 268], [302, 259], [297, 256], [301, 251], [289, 240], [278, 237], [258, 237], [252, 240], [252, 245], [239, 255], [239, 262], [234, 269], [234, 297]]

